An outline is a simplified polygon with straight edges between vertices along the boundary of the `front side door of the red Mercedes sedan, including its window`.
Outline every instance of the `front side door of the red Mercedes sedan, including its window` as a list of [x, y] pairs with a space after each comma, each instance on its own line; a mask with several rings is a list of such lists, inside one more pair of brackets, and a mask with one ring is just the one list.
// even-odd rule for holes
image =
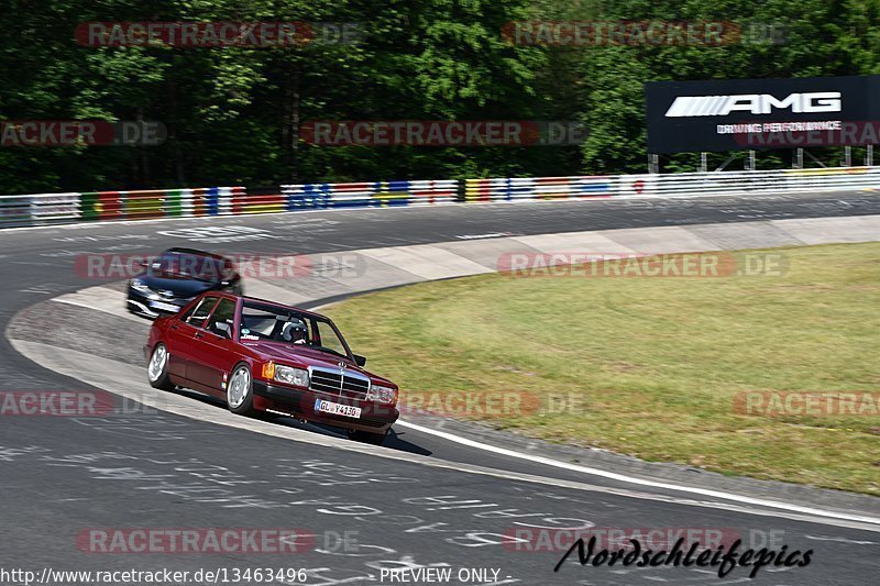
[[[193, 336], [189, 379], [218, 394], [223, 391], [223, 374], [232, 368], [231, 361], [234, 362], [230, 357], [233, 342], [229, 334], [234, 331], [235, 306], [235, 299], [220, 299], [211, 316]], [[218, 324], [226, 324], [229, 334]]]

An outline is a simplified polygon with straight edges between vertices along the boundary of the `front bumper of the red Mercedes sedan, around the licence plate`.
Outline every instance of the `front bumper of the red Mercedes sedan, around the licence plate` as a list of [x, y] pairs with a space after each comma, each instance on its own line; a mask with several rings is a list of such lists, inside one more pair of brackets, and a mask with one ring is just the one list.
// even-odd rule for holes
[[[385, 433], [391, 429], [400, 412], [395, 407], [367, 401], [358, 401], [346, 397], [338, 397], [312, 390], [300, 390], [280, 385], [271, 385], [264, 380], [254, 380], [254, 407], [276, 413], [284, 413], [296, 419], [305, 419], [314, 423], [322, 423], [349, 430], [370, 433]], [[334, 416], [315, 410], [316, 399], [350, 405], [361, 408], [361, 417], [354, 419]]]

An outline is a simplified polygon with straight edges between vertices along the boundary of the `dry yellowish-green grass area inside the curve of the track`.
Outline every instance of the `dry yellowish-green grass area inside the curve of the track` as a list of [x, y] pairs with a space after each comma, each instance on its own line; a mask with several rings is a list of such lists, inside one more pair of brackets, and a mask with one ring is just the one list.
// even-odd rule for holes
[[880, 495], [880, 417], [737, 412], [743, 391], [880, 391], [880, 244], [779, 248], [784, 276], [510, 278], [327, 309], [408, 390], [574, 392], [562, 413], [490, 417], [648, 461]]

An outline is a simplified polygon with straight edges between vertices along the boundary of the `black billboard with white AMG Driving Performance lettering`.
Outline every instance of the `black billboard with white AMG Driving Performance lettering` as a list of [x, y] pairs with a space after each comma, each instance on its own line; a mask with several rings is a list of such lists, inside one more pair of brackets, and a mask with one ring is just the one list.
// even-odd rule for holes
[[648, 152], [880, 143], [880, 76], [649, 81]]

